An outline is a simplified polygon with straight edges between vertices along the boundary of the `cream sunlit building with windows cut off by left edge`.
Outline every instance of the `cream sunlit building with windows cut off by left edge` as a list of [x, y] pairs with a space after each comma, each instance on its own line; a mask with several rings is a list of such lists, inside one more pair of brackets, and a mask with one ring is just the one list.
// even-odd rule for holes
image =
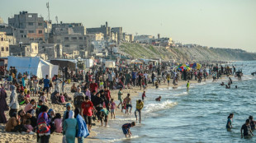
[[9, 41], [6, 32], [0, 32], [0, 57], [9, 56]]

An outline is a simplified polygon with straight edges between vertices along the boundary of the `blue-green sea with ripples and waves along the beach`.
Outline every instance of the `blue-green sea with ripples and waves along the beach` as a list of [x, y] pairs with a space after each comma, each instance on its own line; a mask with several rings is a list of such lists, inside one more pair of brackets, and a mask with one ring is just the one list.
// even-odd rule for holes
[[[177, 89], [166, 88], [147, 90], [145, 108], [142, 110], [142, 122], [131, 127], [132, 136], [126, 138], [121, 125], [135, 121], [134, 109], [131, 115], [116, 116], [109, 120], [109, 127], [93, 127], [100, 142], [256, 142], [256, 136], [243, 139], [240, 128], [252, 115], [256, 119], [256, 61], [231, 62], [236, 70], [242, 70], [244, 76], [238, 81], [230, 76], [233, 84], [225, 89], [221, 82], [227, 84], [224, 77], [217, 82], [191, 84], [187, 92], [185, 85]], [[235, 89], [235, 85], [238, 89]], [[141, 99], [141, 94], [133, 99]], [[160, 102], [155, 98], [162, 96]], [[227, 117], [234, 113], [233, 128], [225, 128]], [[111, 118], [109, 116], [109, 118]], [[256, 131], [254, 131], [256, 135]]]

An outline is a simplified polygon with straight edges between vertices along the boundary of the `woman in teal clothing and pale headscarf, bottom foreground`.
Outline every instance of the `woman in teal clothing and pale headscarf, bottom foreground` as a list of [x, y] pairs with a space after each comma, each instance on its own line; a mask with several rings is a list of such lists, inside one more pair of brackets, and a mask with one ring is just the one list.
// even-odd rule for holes
[[63, 134], [66, 136], [67, 143], [74, 143], [76, 130], [78, 127], [77, 119], [73, 118], [73, 111], [69, 111], [69, 118], [65, 119]]

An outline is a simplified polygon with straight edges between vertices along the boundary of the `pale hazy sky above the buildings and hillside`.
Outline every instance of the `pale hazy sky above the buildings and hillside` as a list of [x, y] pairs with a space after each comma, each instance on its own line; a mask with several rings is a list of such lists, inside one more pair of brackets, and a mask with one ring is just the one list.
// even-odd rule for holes
[[182, 44], [256, 52], [256, 0], [0, 0], [0, 17], [21, 11], [87, 28], [121, 26], [127, 34], [171, 37]]

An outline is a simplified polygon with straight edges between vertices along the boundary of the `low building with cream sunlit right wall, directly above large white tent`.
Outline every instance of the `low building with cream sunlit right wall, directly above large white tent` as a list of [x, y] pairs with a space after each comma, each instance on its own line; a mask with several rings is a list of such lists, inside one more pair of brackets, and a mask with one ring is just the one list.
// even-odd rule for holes
[[37, 54], [38, 54], [37, 43], [10, 45], [11, 56], [36, 57]]

